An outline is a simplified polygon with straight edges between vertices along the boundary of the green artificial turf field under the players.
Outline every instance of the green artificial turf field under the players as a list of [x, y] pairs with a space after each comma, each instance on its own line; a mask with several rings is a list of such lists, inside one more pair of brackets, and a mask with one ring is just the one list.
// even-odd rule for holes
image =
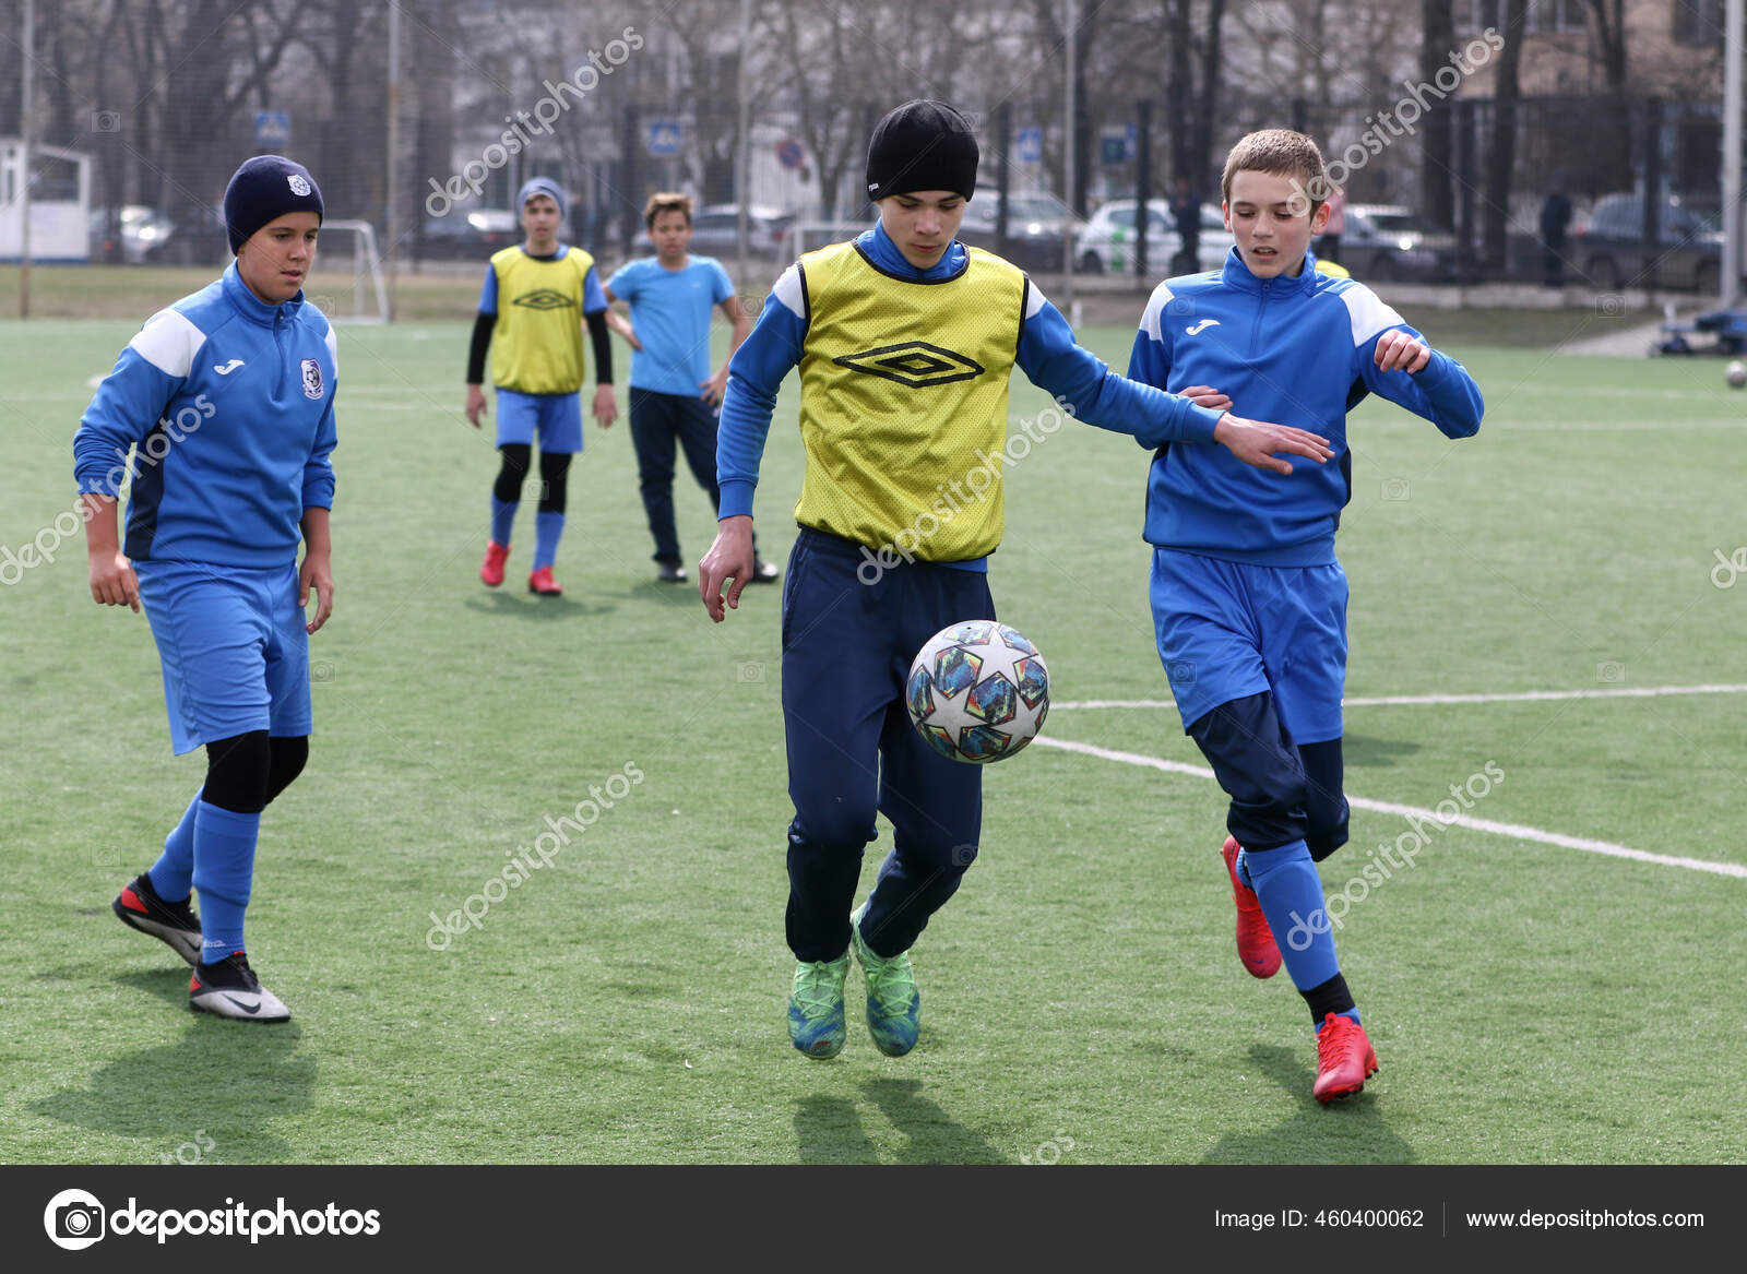
[[[1747, 395], [1717, 364], [1469, 343], [1450, 351], [1485, 390], [1480, 437], [1354, 414], [1349, 793], [1431, 809], [1481, 776], [1469, 816], [1509, 827], [1422, 820], [1373, 884], [1415, 825], [1354, 811], [1322, 876], [1382, 1071], [1324, 1110], [1302, 1000], [1237, 963], [1218, 786], [1137, 762], [1202, 764], [1157, 706], [1143, 451], [1069, 425], [1012, 468], [996, 601], [1048, 657], [1046, 743], [1101, 751], [989, 769], [982, 856], [914, 952], [921, 1045], [874, 1050], [853, 972], [849, 1047], [811, 1063], [783, 1024], [779, 589], [713, 627], [695, 585], [653, 580], [624, 419], [589, 425], [571, 475], [566, 596], [522, 587], [528, 503], [484, 589], [494, 456], [459, 411], [463, 322], [341, 332], [337, 610], [250, 907], [293, 1021], [192, 1017], [187, 968], [108, 904], [203, 762], [169, 755], [145, 619], [94, 606], [82, 533], [52, 530], [91, 377], [135, 327], [0, 325], [0, 545], [54, 552], [0, 587], [0, 1160], [1747, 1159], [1747, 701], [1726, 692], [1747, 584], [1714, 580], [1747, 542]], [[1130, 327], [1081, 336], [1127, 364]], [[795, 402], [790, 379], [760, 488], [779, 561]], [[1015, 377], [1015, 419], [1046, 402]], [[713, 519], [688, 479], [674, 495], [695, 564]], [[1661, 687], [1714, 689], [1494, 697]], [[1455, 696], [1480, 701], [1424, 701]], [[1391, 697], [1417, 701], [1364, 703]], [[1076, 706], [1109, 701], [1139, 706]], [[590, 785], [629, 792], [479, 928], [433, 931]]]

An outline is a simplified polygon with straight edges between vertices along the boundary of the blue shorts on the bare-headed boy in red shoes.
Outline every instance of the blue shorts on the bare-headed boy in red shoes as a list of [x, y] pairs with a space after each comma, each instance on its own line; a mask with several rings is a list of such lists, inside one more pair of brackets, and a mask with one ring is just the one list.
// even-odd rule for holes
[[1347, 573], [1153, 549], [1153, 627], [1184, 732], [1232, 699], [1274, 692], [1293, 743], [1342, 736]]

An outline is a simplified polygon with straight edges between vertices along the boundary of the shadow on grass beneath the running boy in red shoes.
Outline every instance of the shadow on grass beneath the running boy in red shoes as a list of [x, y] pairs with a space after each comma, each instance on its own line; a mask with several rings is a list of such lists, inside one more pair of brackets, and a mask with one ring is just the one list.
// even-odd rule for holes
[[[1412, 1164], [1413, 1146], [1385, 1122], [1370, 1085], [1328, 1106], [1310, 1096], [1315, 1070], [1293, 1049], [1253, 1045], [1249, 1061], [1298, 1103], [1298, 1111], [1267, 1132], [1230, 1132], [1204, 1164]], [[1382, 1077], [1382, 1071], [1378, 1071]], [[1377, 1078], [1371, 1080], [1375, 1084]]]

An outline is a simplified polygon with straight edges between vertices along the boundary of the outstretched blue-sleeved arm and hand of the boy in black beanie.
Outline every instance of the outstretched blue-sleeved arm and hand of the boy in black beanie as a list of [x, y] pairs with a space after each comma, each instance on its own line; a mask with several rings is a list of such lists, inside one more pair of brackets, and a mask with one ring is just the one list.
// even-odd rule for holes
[[[1053, 393], [1078, 419], [1115, 433], [1130, 433], [1141, 446], [1165, 442], [1218, 442], [1246, 465], [1291, 474], [1281, 453], [1309, 456], [1319, 465], [1335, 453], [1328, 439], [1309, 430], [1244, 419], [1230, 411], [1202, 407], [1188, 397], [1165, 393], [1109, 370], [1074, 341], [1073, 329], [1034, 283], [1025, 288], [1025, 320], [1019, 329], [1019, 365], [1039, 390]], [[1218, 395], [1197, 395], [1218, 402]]]

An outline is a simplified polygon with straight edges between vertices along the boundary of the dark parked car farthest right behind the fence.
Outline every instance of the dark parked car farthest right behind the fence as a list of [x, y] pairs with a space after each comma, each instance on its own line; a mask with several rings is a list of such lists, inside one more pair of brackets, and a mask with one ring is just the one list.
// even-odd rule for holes
[[1571, 260], [1600, 292], [1646, 281], [1654, 259], [1658, 285], [1716, 295], [1723, 278], [1723, 231], [1677, 196], [1661, 201], [1656, 220], [1651, 250], [1644, 239], [1644, 196], [1602, 196], [1571, 238]]

